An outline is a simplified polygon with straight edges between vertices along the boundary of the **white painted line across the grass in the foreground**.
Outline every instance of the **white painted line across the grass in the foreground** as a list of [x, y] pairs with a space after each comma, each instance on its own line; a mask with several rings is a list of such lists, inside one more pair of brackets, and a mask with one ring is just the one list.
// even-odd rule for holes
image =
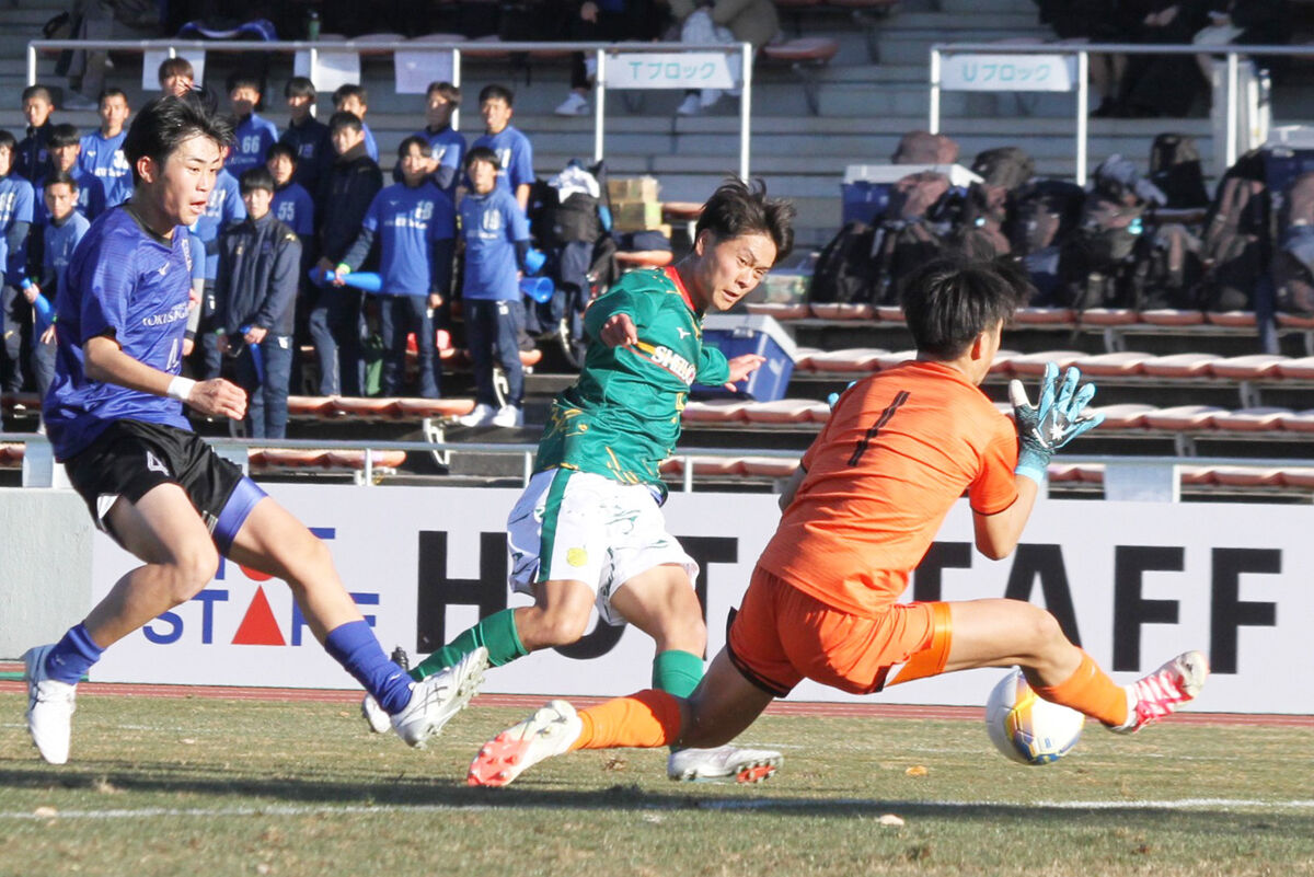
[[[247, 817], [321, 817], [355, 814], [427, 814], [427, 813], [482, 813], [506, 810], [509, 807], [535, 807], [540, 805], [509, 802], [495, 803], [378, 803], [378, 805], [269, 805], [255, 807], [141, 807], [120, 810], [59, 810], [47, 811], [0, 811], [5, 821], [50, 821], [50, 819], [223, 819]], [[706, 800], [668, 803], [661, 801], [625, 802], [620, 805], [633, 810], [829, 810], [836, 807], [865, 807], [891, 813], [900, 809], [958, 809], [958, 807], [1007, 807], [1030, 810], [1202, 810], [1202, 809], [1250, 809], [1250, 810], [1310, 810], [1314, 800], [1264, 801], [1257, 798], [1179, 798], [1173, 801], [1035, 801], [1031, 803], [1013, 801], [880, 801], [874, 798], [752, 798], [744, 801]], [[570, 809], [552, 806], [549, 809]]]

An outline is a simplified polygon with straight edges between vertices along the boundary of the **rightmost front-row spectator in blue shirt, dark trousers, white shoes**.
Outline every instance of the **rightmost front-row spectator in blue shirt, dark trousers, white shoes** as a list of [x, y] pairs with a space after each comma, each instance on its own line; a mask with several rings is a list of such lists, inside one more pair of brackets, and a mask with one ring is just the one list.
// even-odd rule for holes
[[[465, 341], [474, 365], [474, 411], [460, 419], [466, 427], [520, 427], [524, 424], [524, 370], [520, 333], [524, 307], [516, 267], [530, 252], [530, 222], [511, 193], [498, 186], [497, 154], [474, 146], [465, 156], [470, 194], [461, 198], [461, 238], [465, 270], [461, 274]], [[506, 372], [506, 404], [493, 390], [493, 356]]]

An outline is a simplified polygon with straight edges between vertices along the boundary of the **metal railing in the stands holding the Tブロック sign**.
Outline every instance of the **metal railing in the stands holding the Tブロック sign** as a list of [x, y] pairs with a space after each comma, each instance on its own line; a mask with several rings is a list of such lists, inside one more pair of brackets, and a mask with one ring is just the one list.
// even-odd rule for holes
[[[196, 51], [222, 51], [222, 53], [276, 53], [296, 54], [307, 53], [309, 68], [315, 70], [319, 53], [342, 54], [355, 53], [359, 55], [390, 55], [397, 51], [434, 51], [451, 53], [452, 56], [452, 84], [461, 84], [461, 59], [465, 55], [502, 55], [506, 53], [524, 55], [552, 55], [560, 56], [562, 51], [593, 53], [598, 64], [594, 83], [594, 130], [593, 130], [593, 160], [600, 161], [606, 158], [604, 129], [606, 129], [606, 96], [607, 96], [607, 56], [622, 53], [721, 53], [740, 56], [740, 151], [738, 175], [741, 179], [749, 176], [750, 146], [749, 134], [752, 125], [753, 105], [753, 46], [750, 43], [681, 43], [681, 42], [426, 42], [426, 41], [342, 41], [342, 42], [307, 42], [307, 41], [273, 41], [273, 42], [246, 42], [235, 39], [33, 39], [28, 43], [28, 84], [37, 84], [37, 63], [39, 53], [45, 50], [87, 50], [102, 49], [106, 51], [141, 53], [163, 51], [170, 58], [177, 56], [187, 50]], [[452, 127], [456, 130], [460, 117], [452, 117]]]

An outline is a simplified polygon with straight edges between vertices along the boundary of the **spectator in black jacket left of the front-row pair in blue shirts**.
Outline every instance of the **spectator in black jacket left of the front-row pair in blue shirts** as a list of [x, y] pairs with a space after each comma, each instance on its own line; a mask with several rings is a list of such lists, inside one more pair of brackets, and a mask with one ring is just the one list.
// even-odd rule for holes
[[[360, 117], [346, 110], [328, 119], [328, 137], [338, 160], [323, 186], [319, 215], [319, 274], [332, 272], [346, 257], [369, 203], [384, 188], [384, 172], [365, 154]], [[367, 263], [368, 264], [368, 263]], [[360, 395], [364, 362], [360, 349], [360, 290], [323, 286], [310, 311], [310, 336], [319, 361], [321, 395]]]

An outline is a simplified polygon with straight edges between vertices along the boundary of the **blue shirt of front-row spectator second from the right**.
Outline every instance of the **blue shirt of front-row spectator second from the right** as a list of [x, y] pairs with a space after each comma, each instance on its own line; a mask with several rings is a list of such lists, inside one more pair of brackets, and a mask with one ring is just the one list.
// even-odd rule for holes
[[369, 202], [361, 227], [378, 239], [382, 291], [427, 295], [434, 289], [434, 242], [456, 236], [456, 210], [430, 181], [414, 189], [397, 182]]

